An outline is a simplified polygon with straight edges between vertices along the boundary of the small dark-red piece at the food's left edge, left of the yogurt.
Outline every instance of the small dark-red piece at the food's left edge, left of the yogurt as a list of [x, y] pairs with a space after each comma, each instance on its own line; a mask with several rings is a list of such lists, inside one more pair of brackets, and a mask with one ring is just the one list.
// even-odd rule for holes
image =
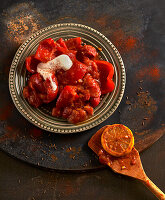
[[36, 59], [34, 57], [34, 55], [31, 55], [31, 56], [28, 56], [26, 59], [25, 59], [25, 66], [26, 66], [26, 69], [34, 74], [36, 73], [37, 71], [37, 65], [40, 63], [40, 61], [38, 59]]

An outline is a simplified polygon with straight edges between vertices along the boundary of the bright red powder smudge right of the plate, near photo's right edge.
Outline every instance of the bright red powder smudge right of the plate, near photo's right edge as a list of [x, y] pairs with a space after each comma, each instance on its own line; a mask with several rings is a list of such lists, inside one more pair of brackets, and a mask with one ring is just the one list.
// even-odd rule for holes
[[152, 81], [158, 81], [160, 79], [160, 74], [161, 73], [159, 67], [157, 65], [153, 65], [140, 69], [137, 72], [136, 77], [138, 79], [149, 78]]

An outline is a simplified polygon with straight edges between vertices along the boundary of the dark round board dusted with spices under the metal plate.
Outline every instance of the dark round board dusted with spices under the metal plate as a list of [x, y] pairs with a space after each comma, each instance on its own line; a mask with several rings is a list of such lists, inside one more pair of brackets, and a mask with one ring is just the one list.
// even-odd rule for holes
[[[136, 141], [145, 140], [164, 126], [163, 14], [153, 15], [152, 9], [146, 9], [150, 5], [155, 12], [160, 11], [156, 1], [50, 2], [2, 4], [0, 148], [46, 168], [99, 168], [101, 165], [88, 149], [87, 141], [102, 126], [123, 123], [133, 130]], [[79, 12], [71, 12], [73, 7]], [[62, 22], [86, 24], [105, 34], [120, 51], [127, 71], [125, 96], [118, 110], [96, 128], [69, 136], [50, 134], [31, 125], [18, 113], [8, 91], [8, 71], [18, 46], [36, 30]]]

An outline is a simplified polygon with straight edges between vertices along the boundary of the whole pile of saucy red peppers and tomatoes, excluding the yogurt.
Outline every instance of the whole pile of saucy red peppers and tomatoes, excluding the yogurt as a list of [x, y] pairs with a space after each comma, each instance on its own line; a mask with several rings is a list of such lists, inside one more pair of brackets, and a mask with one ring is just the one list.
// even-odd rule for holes
[[[72, 60], [72, 67], [54, 72], [56, 91], [48, 79], [37, 73], [40, 62], [48, 62], [66, 54]], [[80, 37], [56, 42], [52, 38], [40, 42], [34, 55], [26, 58], [26, 69], [31, 73], [23, 95], [34, 107], [54, 101], [52, 116], [62, 117], [71, 123], [78, 123], [93, 115], [93, 109], [100, 103], [101, 94], [112, 92], [114, 68], [107, 61], [98, 59], [96, 49], [82, 43]]]

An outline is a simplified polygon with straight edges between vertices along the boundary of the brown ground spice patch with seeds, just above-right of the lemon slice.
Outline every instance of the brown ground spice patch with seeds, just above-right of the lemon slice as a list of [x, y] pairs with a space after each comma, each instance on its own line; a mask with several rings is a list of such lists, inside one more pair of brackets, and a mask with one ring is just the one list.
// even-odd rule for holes
[[120, 121], [136, 132], [141, 131], [152, 122], [158, 108], [150, 93], [144, 91], [138, 92], [135, 99], [126, 100], [126, 104], [128, 106], [122, 111]]

